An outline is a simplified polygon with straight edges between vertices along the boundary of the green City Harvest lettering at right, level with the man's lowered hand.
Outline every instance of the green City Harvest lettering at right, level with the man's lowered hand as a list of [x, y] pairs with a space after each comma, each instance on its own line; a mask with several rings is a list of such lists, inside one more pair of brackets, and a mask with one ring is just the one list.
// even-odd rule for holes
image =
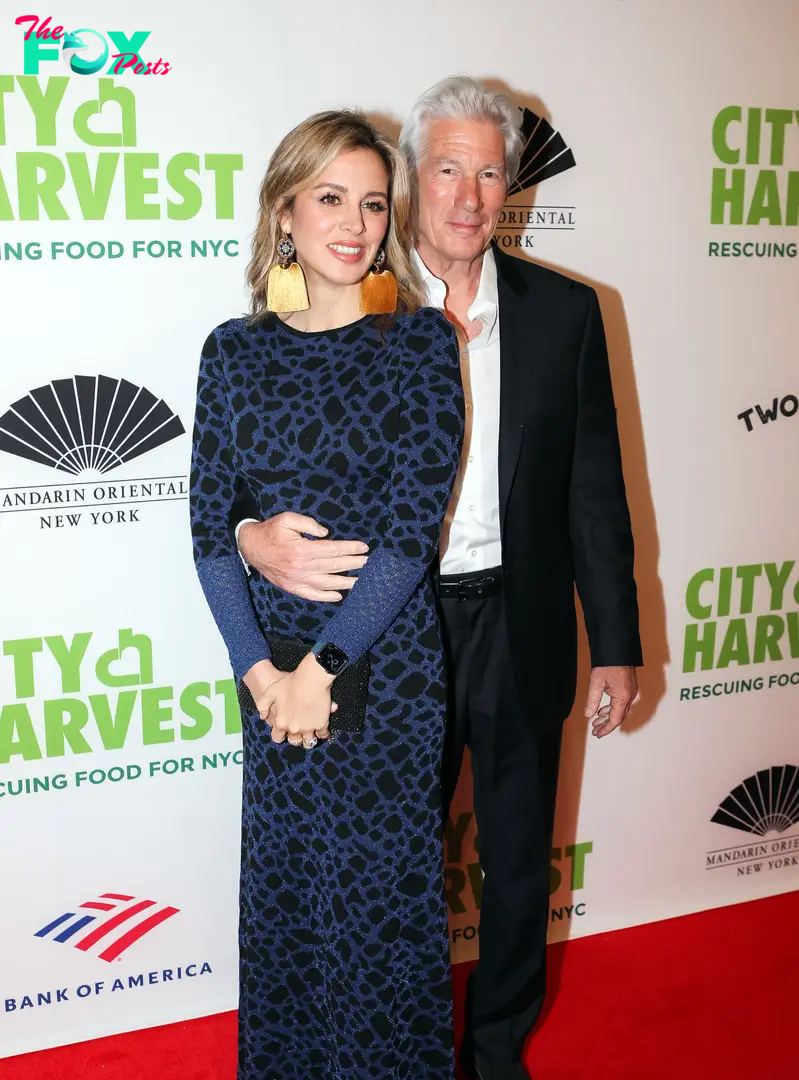
[[[796, 562], [698, 570], [688, 582], [682, 671], [799, 659]], [[756, 608], [761, 613], [756, 613]]]

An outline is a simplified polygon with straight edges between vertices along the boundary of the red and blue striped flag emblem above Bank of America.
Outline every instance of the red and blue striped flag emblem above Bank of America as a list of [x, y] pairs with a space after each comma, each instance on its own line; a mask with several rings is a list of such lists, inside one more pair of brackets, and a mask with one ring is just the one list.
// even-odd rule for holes
[[81, 953], [92, 953], [110, 963], [179, 910], [179, 907], [168, 907], [154, 900], [104, 892], [97, 900], [79, 904], [75, 912], [59, 915], [37, 930], [33, 936], [73, 945]]

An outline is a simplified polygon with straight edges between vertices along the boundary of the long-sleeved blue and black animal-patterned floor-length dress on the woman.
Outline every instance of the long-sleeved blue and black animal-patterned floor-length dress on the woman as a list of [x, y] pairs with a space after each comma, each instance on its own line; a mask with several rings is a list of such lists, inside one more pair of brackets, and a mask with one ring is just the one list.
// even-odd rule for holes
[[[265, 631], [369, 653], [366, 727], [313, 751], [245, 715], [240, 1080], [451, 1080], [439, 819], [442, 644], [428, 569], [463, 434], [455, 333], [429, 308], [301, 333], [231, 320], [203, 349], [198, 573], [236, 678]], [[248, 578], [229, 516], [308, 514], [369, 559], [340, 604]]]

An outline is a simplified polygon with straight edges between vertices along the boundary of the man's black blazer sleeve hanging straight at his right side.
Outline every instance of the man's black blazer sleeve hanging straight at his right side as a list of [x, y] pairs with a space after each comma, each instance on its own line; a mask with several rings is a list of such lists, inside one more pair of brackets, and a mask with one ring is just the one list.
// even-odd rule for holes
[[574, 580], [592, 665], [641, 663], [634, 545], [599, 302], [592, 289], [577, 375], [569, 492]]

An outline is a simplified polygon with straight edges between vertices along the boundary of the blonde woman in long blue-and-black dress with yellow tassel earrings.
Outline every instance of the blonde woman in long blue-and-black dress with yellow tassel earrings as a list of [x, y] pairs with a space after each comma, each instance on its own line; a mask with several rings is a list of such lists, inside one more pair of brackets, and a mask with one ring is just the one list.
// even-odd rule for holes
[[[194, 555], [255, 703], [243, 710], [240, 1080], [452, 1077], [428, 570], [463, 405], [456, 335], [419, 307], [411, 239], [409, 179], [387, 138], [358, 113], [311, 117], [261, 186], [252, 316], [203, 349]], [[247, 576], [228, 527], [242, 484], [263, 516], [298, 511], [369, 543], [342, 604]], [[286, 674], [275, 650], [298, 642]], [[350, 697], [328, 740], [337, 680], [367, 663], [352, 680], [363, 729], [346, 730]]]

